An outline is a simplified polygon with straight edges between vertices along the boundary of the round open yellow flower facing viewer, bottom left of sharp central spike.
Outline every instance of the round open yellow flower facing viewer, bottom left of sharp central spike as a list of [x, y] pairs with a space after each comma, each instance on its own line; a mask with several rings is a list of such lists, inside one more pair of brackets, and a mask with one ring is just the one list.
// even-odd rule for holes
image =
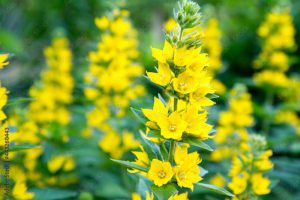
[[173, 177], [172, 166], [169, 162], [163, 162], [157, 159], [151, 161], [148, 171], [148, 178], [157, 186], [168, 183]]

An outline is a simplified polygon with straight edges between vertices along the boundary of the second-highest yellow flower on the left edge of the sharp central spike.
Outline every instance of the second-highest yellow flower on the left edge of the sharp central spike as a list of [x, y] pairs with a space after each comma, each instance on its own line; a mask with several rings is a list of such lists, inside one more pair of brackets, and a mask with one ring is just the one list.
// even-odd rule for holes
[[153, 83], [166, 86], [171, 82], [172, 71], [168, 63], [158, 62], [158, 72], [147, 72], [147, 76]]

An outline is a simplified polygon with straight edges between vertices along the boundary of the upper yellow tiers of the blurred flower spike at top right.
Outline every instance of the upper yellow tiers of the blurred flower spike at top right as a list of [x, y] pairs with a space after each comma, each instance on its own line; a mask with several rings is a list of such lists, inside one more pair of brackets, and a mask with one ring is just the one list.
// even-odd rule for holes
[[254, 75], [254, 81], [260, 86], [287, 88], [289, 78], [284, 73], [289, 69], [286, 51], [293, 51], [295, 28], [289, 10], [272, 11], [258, 29], [262, 39], [262, 50], [254, 61], [254, 67], [263, 69]]

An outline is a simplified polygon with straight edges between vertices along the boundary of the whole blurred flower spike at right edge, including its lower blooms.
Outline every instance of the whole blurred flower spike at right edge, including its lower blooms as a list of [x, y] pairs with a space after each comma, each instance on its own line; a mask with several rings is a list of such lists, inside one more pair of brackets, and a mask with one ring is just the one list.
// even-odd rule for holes
[[[267, 132], [268, 127], [274, 122], [288, 123], [295, 128], [296, 133], [299, 133], [300, 119], [297, 109], [293, 106], [288, 108], [283, 106], [285, 103], [297, 105], [300, 100], [299, 78], [286, 75], [291, 64], [287, 52], [296, 50], [295, 28], [290, 11], [269, 13], [259, 27], [258, 35], [262, 39], [263, 47], [254, 66], [263, 70], [254, 74], [254, 81], [266, 90], [266, 111], [271, 114], [266, 115], [266, 118], [270, 119], [264, 119], [265, 131]], [[280, 106], [273, 106], [275, 95], [280, 97], [281, 101], [276, 102]]]

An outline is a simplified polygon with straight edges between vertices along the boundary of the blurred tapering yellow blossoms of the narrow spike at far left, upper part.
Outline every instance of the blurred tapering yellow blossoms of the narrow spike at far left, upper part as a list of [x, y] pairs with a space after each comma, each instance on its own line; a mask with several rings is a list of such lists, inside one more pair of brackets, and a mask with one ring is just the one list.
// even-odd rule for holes
[[44, 51], [48, 68], [43, 71], [41, 83], [30, 88], [35, 101], [29, 105], [29, 117], [37, 122], [57, 122], [66, 125], [71, 116], [67, 105], [73, 97], [74, 80], [71, 75], [72, 52], [65, 37], [56, 37]]

